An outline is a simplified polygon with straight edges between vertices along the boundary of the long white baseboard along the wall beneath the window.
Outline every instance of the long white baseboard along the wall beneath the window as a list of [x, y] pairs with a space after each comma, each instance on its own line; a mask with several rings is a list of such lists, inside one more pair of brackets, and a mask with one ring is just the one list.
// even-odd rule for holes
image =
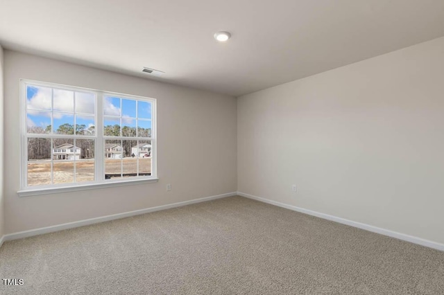
[[42, 227], [40, 229], [31, 229], [29, 231], [19, 231], [18, 233], [9, 233], [8, 235], [3, 235], [3, 237], [0, 239], [0, 247], [1, 247], [1, 243], [3, 243], [3, 241], [6, 242], [6, 241], [11, 241], [11, 240], [28, 238], [28, 237], [32, 237], [33, 235], [42, 235], [44, 233], [53, 233], [54, 231], [63, 231], [65, 229], [73, 229], [75, 227], [96, 224], [96, 223], [100, 223], [100, 222], [107, 222], [110, 220], [118, 220], [118, 219], [125, 218], [125, 217], [141, 215], [141, 214], [145, 214], [145, 213], [161, 211], [161, 210], [166, 210], [166, 209], [176, 208], [176, 207], [181, 207], [181, 206], [187, 206], [187, 205], [196, 204], [196, 203], [200, 203], [200, 202], [211, 201], [213, 199], [221, 199], [223, 197], [231, 197], [234, 195], [237, 195], [237, 193], [233, 192], [233, 193], [226, 193], [226, 194], [222, 194], [222, 195], [214, 195], [211, 197], [203, 197], [200, 199], [191, 199], [191, 200], [185, 201], [185, 202], [167, 204], [167, 205], [162, 205], [162, 206], [157, 206], [157, 207], [140, 209], [140, 210], [136, 210], [136, 211], [118, 213], [118, 214], [107, 215], [107, 216], [102, 216], [102, 217], [96, 217], [96, 218], [91, 218], [89, 220], [80, 220], [78, 222], [69, 222], [69, 223], [65, 223], [65, 224], [47, 226], [47, 227]]

